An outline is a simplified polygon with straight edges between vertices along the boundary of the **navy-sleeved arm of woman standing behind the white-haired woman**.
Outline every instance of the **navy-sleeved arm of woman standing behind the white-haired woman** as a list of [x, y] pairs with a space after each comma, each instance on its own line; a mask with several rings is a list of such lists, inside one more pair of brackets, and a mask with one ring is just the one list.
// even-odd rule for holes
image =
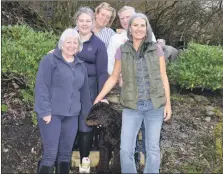
[[99, 45], [96, 56], [96, 74], [98, 80], [98, 92], [101, 91], [106, 80], [108, 79], [107, 67], [108, 67], [108, 54], [105, 44], [102, 43]]

